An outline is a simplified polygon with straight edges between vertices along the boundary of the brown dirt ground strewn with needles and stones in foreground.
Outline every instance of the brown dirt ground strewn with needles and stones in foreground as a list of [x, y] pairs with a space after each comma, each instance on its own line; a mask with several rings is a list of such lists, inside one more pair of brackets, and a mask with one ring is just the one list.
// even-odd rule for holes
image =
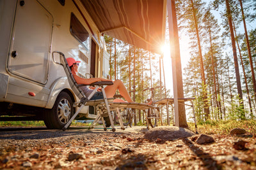
[[[16, 130], [0, 129], [0, 169], [256, 169], [255, 136], [211, 135], [214, 143], [198, 145], [148, 141], [145, 127]], [[243, 150], [234, 148], [237, 140], [246, 142]]]

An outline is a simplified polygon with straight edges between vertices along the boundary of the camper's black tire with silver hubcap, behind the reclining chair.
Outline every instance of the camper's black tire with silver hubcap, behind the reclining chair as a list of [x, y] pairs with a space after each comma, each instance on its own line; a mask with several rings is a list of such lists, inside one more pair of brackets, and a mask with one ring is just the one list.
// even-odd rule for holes
[[62, 129], [74, 115], [73, 101], [67, 92], [60, 92], [54, 106], [45, 115], [44, 123], [48, 129]]

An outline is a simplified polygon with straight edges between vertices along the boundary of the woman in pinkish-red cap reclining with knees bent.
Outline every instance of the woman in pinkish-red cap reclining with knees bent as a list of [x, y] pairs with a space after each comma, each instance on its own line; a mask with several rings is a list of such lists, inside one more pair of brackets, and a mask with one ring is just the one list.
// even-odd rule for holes
[[[112, 81], [112, 80], [108, 80], [105, 78], [82, 78], [80, 76], [77, 76], [77, 69], [79, 66], [78, 63], [80, 61], [77, 61], [70, 57], [70, 58], [67, 58], [67, 62], [68, 62], [68, 66], [70, 67], [71, 72], [72, 72], [77, 84], [90, 85], [91, 83], [95, 83], [97, 81]], [[86, 97], [89, 97], [90, 94], [93, 92], [93, 90], [89, 89], [87, 86], [80, 87], [80, 89], [83, 90]], [[104, 89], [105, 89], [107, 98], [113, 97], [115, 95], [116, 90], [119, 90], [120, 94], [125, 98], [125, 100], [127, 102], [134, 103], [134, 101], [132, 101], [132, 99], [131, 99], [131, 96], [129, 95], [129, 92], [125, 88], [124, 83], [121, 80], [113, 81], [113, 85], [108, 85]], [[104, 97], [103, 97], [102, 92], [96, 92], [93, 95], [93, 97], [91, 98], [91, 100], [103, 99], [103, 98]], [[123, 101], [122, 99], [118, 99], [118, 101], [116, 101], [116, 102], [122, 102], [122, 101]]]

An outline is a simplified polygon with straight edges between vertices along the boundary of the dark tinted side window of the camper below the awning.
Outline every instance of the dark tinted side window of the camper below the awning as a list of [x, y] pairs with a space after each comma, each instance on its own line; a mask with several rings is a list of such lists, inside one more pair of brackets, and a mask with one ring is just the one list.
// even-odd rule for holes
[[85, 48], [89, 49], [90, 36], [74, 13], [71, 13], [70, 32]]

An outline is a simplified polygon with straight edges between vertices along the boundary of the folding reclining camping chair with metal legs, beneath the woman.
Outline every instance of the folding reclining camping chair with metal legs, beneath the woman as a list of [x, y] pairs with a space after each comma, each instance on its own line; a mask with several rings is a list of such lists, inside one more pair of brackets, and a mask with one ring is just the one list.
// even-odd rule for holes
[[[54, 53], [58, 53], [60, 55], [60, 62], [56, 62], [56, 60], [54, 59]], [[76, 113], [70, 118], [70, 120], [67, 122], [67, 124], [63, 127], [62, 130], [65, 131], [68, 128], [68, 126], [71, 124], [72, 120], [74, 120], [74, 118], [77, 117], [77, 115], [79, 114], [79, 112], [82, 110], [82, 108], [84, 106], [96, 106], [98, 115], [97, 115], [97, 118], [94, 120], [93, 124], [90, 126], [90, 129], [92, 129], [93, 125], [97, 124], [97, 122], [101, 118], [102, 119], [102, 124], [104, 126], [104, 130], [106, 131], [106, 125], [104, 123], [104, 117], [109, 117], [110, 124], [111, 124], [111, 127], [112, 127], [112, 131], [115, 132], [115, 126], [113, 124], [113, 119], [111, 117], [111, 113], [110, 113], [110, 110], [109, 110], [108, 99], [106, 97], [106, 93], [105, 93], [105, 90], [104, 90], [104, 85], [113, 85], [113, 82], [112, 81], [97, 81], [95, 83], [90, 84], [90, 86], [94, 86], [95, 89], [93, 90], [92, 94], [90, 94], [89, 97], [86, 97], [84, 95], [83, 91], [81, 89], [79, 89], [79, 87], [84, 86], [84, 85], [78, 85], [76, 83], [76, 80], [74, 79], [74, 76], [71, 73], [70, 67], [68, 66], [65, 55], [61, 52], [54, 51], [54, 52], [52, 52], [52, 59], [56, 64], [60, 64], [61, 66], [63, 66], [63, 68], [65, 70], [65, 73], [67, 74], [68, 83], [69, 83], [72, 91], [80, 99], [79, 102], [76, 102], [73, 105], [73, 107], [78, 107]], [[97, 92], [97, 89], [99, 89], [99, 88], [102, 89], [102, 94], [104, 96], [104, 99], [98, 99], [98, 100], [90, 101], [92, 96]], [[106, 111], [104, 111], [104, 110], [106, 110]], [[118, 117], [120, 117], [120, 115], [118, 115]], [[121, 129], [124, 130], [124, 125], [122, 124], [122, 119], [121, 118], [119, 118], [119, 122], [120, 122], [120, 125], [121, 125]]]

